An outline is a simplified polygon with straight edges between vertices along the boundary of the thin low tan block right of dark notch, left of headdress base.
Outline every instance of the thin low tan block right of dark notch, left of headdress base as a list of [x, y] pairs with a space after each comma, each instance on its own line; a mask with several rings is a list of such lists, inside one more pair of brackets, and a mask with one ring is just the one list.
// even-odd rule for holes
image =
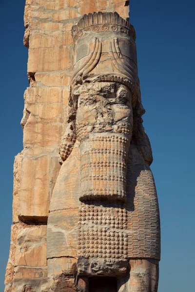
[[65, 73], [36, 73], [35, 79], [45, 86], [66, 86], [70, 84], [70, 76]]

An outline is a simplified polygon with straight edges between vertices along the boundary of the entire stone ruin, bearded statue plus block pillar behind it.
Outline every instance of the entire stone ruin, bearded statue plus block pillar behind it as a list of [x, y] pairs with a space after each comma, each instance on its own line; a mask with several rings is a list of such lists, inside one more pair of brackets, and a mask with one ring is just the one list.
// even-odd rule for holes
[[129, 1], [26, 0], [30, 87], [5, 292], [157, 292], [160, 222]]

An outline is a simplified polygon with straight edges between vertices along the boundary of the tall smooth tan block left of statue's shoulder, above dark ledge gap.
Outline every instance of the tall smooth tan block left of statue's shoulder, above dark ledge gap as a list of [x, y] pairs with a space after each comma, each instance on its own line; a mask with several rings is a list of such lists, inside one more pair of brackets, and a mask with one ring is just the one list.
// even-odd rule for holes
[[38, 222], [46, 220], [58, 172], [58, 156], [23, 158], [19, 208], [19, 218], [22, 221], [28, 221], [29, 218]]

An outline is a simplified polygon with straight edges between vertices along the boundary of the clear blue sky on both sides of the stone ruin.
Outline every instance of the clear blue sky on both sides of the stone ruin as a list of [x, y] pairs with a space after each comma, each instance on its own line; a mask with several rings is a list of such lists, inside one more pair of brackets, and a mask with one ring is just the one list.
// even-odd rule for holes
[[[137, 32], [144, 126], [154, 155], [162, 259], [158, 292], [193, 292], [195, 273], [195, 2], [131, 0]], [[0, 292], [9, 254], [14, 156], [22, 150], [20, 119], [28, 50], [24, 0], [0, 1]]]

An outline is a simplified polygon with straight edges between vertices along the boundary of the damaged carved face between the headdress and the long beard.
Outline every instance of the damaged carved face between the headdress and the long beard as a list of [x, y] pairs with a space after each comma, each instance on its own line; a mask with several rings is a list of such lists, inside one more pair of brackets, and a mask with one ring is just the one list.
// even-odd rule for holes
[[[113, 132], [132, 135], [133, 110], [130, 90], [119, 83], [85, 83], [79, 89], [79, 134]], [[84, 131], [84, 132], [83, 132]]]

